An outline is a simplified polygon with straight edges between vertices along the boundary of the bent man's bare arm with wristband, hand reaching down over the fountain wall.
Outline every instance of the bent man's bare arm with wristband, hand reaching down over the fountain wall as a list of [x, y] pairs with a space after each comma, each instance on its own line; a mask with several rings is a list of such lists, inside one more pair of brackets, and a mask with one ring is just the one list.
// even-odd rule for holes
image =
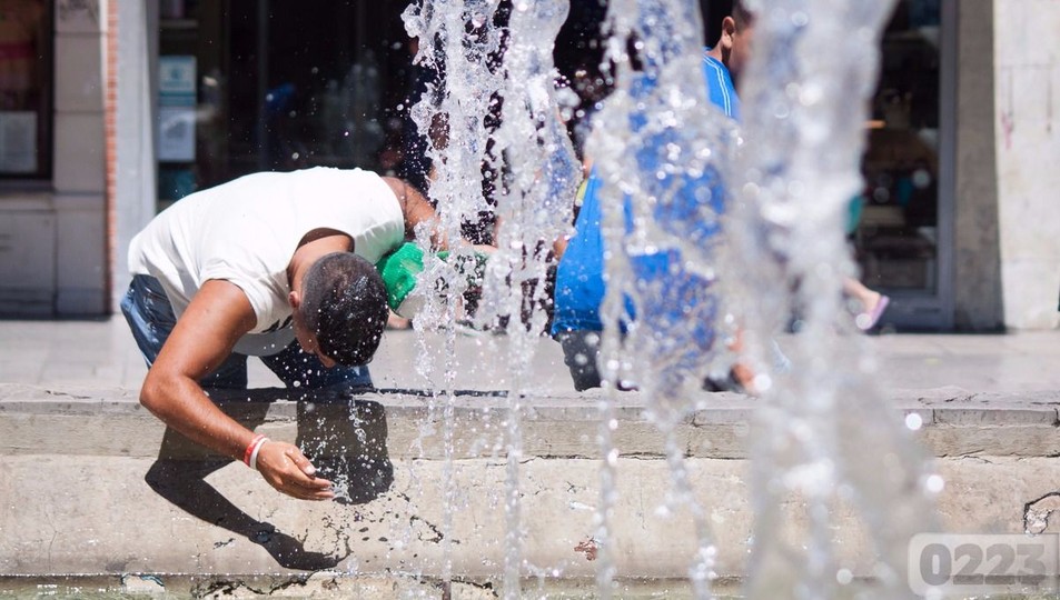
[[[198, 381], [219, 367], [257, 322], [247, 296], [236, 284], [209, 280], [177, 320], [140, 390], [140, 403], [167, 426], [216, 452], [242, 460], [254, 432], [225, 414]], [[330, 482], [315, 479], [309, 460], [293, 444], [265, 443], [257, 467], [277, 490], [305, 500], [334, 494]]]

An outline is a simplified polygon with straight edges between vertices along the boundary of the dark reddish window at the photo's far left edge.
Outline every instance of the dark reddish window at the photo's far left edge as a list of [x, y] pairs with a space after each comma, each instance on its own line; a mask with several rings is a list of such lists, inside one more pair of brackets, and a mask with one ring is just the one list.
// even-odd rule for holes
[[0, 178], [51, 172], [51, 2], [0, 0]]

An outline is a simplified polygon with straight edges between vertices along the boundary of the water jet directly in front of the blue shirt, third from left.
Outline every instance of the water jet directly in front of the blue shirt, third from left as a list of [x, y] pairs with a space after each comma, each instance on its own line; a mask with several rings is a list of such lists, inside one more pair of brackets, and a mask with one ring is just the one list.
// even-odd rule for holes
[[[666, 439], [671, 503], [690, 509], [699, 550], [688, 577], [696, 597], [711, 596], [715, 550], [705, 510], [693, 496], [675, 429], [696, 407], [697, 391], [720, 359], [715, 348], [715, 246], [722, 173], [737, 141], [734, 123], [709, 101], [702, 77], [699, 4], [682, 0], [610, 4], [608, 56], [617, 88], [588, 140], [605, 186], [602, 231], [608, 273], [602, 310], [604, 374], [611, 400], [620, 380], [635, 381], [647, 417]], [[633, 47], [633, 57], [625, 51]], [[634, 72], [633, 64], [642, 67]], [[693, 74], [694, 76], [690, 76]], [[636, 319], [632, 320], [635, 314]], [[624, 332], [624, 333], [623, 333]], [[605, 454], [598, 588], [614, 577], [608, 514], [615, 502], [615, 452]]]

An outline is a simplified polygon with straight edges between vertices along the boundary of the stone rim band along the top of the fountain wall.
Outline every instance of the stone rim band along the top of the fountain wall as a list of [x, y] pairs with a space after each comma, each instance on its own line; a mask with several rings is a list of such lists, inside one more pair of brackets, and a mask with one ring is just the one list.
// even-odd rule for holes
[[[502, 392], [456, 392], [452, 399], [415, 390], [383, 390], [355, 398], [318, 394], [311, 402], [291, 400], [287, 390], [267, 388], [237, 393], [214, 392], [221, 408], [270, 438], [296, 441], [316, 434], [337, 436], [356, 444], [357, 428], [386, 440], [393, 458], [439, 459], [504, 456], [507, 414]], [[523, 398], [522, 450], [542, 458], [600, 458], [601, 391]], [[747, 458], [749, 431], [762, 401], [735, 393], [702, 393], [699, 409], [674, 430], [687, 457]], [[665, 438], [645, 418], [636, 392], [614, 401], [615, 448], [623, 456], [662, 457]], [[890, 402], [914, 436], [935, 457], [1060, 456], [1060, 392], [971, 393], [959, 388], [898, 391]], [[307, 407], [311, 407], [307, 408]], [[454, 423], [446, 454], [444, 422]], [[318, 431], [319, 430], [319, 431]], [[70, 440], [77, 440], [71, 444]], [[165, 448], [164, 448], [164, 441]], [[82, 454], [131, 458], [204, 456], [202, 450], [166, 427], [126, 389], [0, 384], [0, 456]]]

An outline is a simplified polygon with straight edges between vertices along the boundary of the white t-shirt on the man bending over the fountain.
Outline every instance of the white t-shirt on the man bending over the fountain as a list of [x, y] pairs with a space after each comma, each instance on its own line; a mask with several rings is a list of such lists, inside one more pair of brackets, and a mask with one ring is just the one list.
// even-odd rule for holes
[[287, 267], [306, 233], [335, 229], [369, 262], [405, 236], [402, 207], [383, 179], [360, 169], [318, 167], [246, 176], [177, 201], [129, 246], [129, 272], [156, 277], [179, 318], [204, 282], [238, 286], [257, 324], [244, 354], [279, 352], [294, 339]]

